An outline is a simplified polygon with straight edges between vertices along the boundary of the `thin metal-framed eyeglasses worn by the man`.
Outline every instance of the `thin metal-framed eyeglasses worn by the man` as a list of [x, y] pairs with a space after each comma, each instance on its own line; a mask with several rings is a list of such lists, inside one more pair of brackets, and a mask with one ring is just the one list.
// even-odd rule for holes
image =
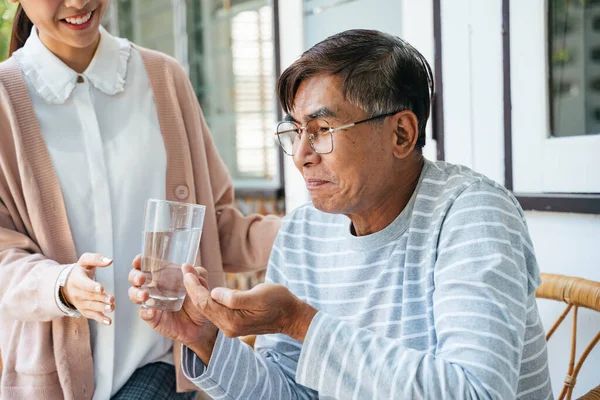
[[386, 118], [396, 113], [397, 111], [393, 113], [376, 115], [374, 117], [353, 122], [351, 124], [346, 124], [338, 128], [332, 128], [329, 122], [321, 118], [312, 119], [304, 126], [298, 125], [292, 121], [283, 121], [277, 124], [277, 132], [275, 132], [275, 134], [277, 135], [279, 145], [283, 149], [284, 153], [289, 156], [293, 156], [298, 150], [300, 141], [302, 139], [302, 131], [306, 131], [308, 143], [315, 153], [329, 154], [333, 151], [333, 132], [352, 128], [353, 126], [362, 124], [364, 122]]

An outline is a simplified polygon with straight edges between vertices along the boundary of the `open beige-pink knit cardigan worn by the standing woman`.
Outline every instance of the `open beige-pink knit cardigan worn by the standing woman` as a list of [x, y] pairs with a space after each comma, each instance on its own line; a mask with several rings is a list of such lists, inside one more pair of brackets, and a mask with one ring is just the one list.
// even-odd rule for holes
[[[231, 178], [184, 70], [168, 56], [136, 49], [167, 151], [167, 199], [207, 207], [199, 260], [209, 285], [223, 285], [223, 271], [265, 268], [279, 219], [243, 217], [234, 208]], [[58, 178], [25, 81], [9, 59], [0, 64], [0, 398], [91, 398], [88, 322], [64, 317], [53, 293], [61, 265], [76, 261]], [[194, 389], [180, 369], [180, 345], [173, 350], [178, 390]]]

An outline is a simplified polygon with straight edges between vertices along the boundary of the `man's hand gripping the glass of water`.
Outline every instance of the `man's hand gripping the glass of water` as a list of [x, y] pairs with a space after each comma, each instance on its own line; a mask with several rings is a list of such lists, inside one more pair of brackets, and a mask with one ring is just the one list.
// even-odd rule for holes
[[[142, 304], [148, 300], [148, 291], [141, 286], [146, 282], [146, 277], [140, 271], [141, 257], [138, 255], [133, 260], [133, 269], [129, 273], [129, 299], [135, 304]], [[191, 276], [195, 282], [207, 291], [207, 271], [204, 268], [194, 268], [189, 264], [182, 266], [184, 276]], [[189, 279], [189, 277], [188, 277]], [[204, 364], [208, 365], [212, 349], [217, 339], [218, 329], [192, 304], [190, 294], [183, 301], [181, 310], [177, 312], [140, 308], [140, 317], [161, 335], [185, 344], [192, 349]]]

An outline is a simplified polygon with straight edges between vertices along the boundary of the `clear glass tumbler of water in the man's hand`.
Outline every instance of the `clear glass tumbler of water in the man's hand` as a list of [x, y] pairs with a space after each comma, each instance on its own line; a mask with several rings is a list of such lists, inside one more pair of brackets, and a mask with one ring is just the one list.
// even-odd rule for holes
[[142, 272], [150, 298], [144, 307], [179, 311], [185, 299], [181, 265], [195, 265], [205, 206], [148, 199], [144, 212]]

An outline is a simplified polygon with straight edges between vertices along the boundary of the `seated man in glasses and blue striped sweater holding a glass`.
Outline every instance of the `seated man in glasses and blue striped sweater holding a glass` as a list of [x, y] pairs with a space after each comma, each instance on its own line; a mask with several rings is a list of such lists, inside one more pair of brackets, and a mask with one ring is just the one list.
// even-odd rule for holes
[[[523, 211], [485, 176], [423, 158], [423, 56], [347, 31], [277, 90], [279, 142], [312, 203], [284, 218], [267, 283], [209, 292], [184, 266], [182, 311], [140, 311], [186, 344], [186, 375], [227, 399], [551, 398]], [[137, 269], [130, 281], [144, 300]]]

